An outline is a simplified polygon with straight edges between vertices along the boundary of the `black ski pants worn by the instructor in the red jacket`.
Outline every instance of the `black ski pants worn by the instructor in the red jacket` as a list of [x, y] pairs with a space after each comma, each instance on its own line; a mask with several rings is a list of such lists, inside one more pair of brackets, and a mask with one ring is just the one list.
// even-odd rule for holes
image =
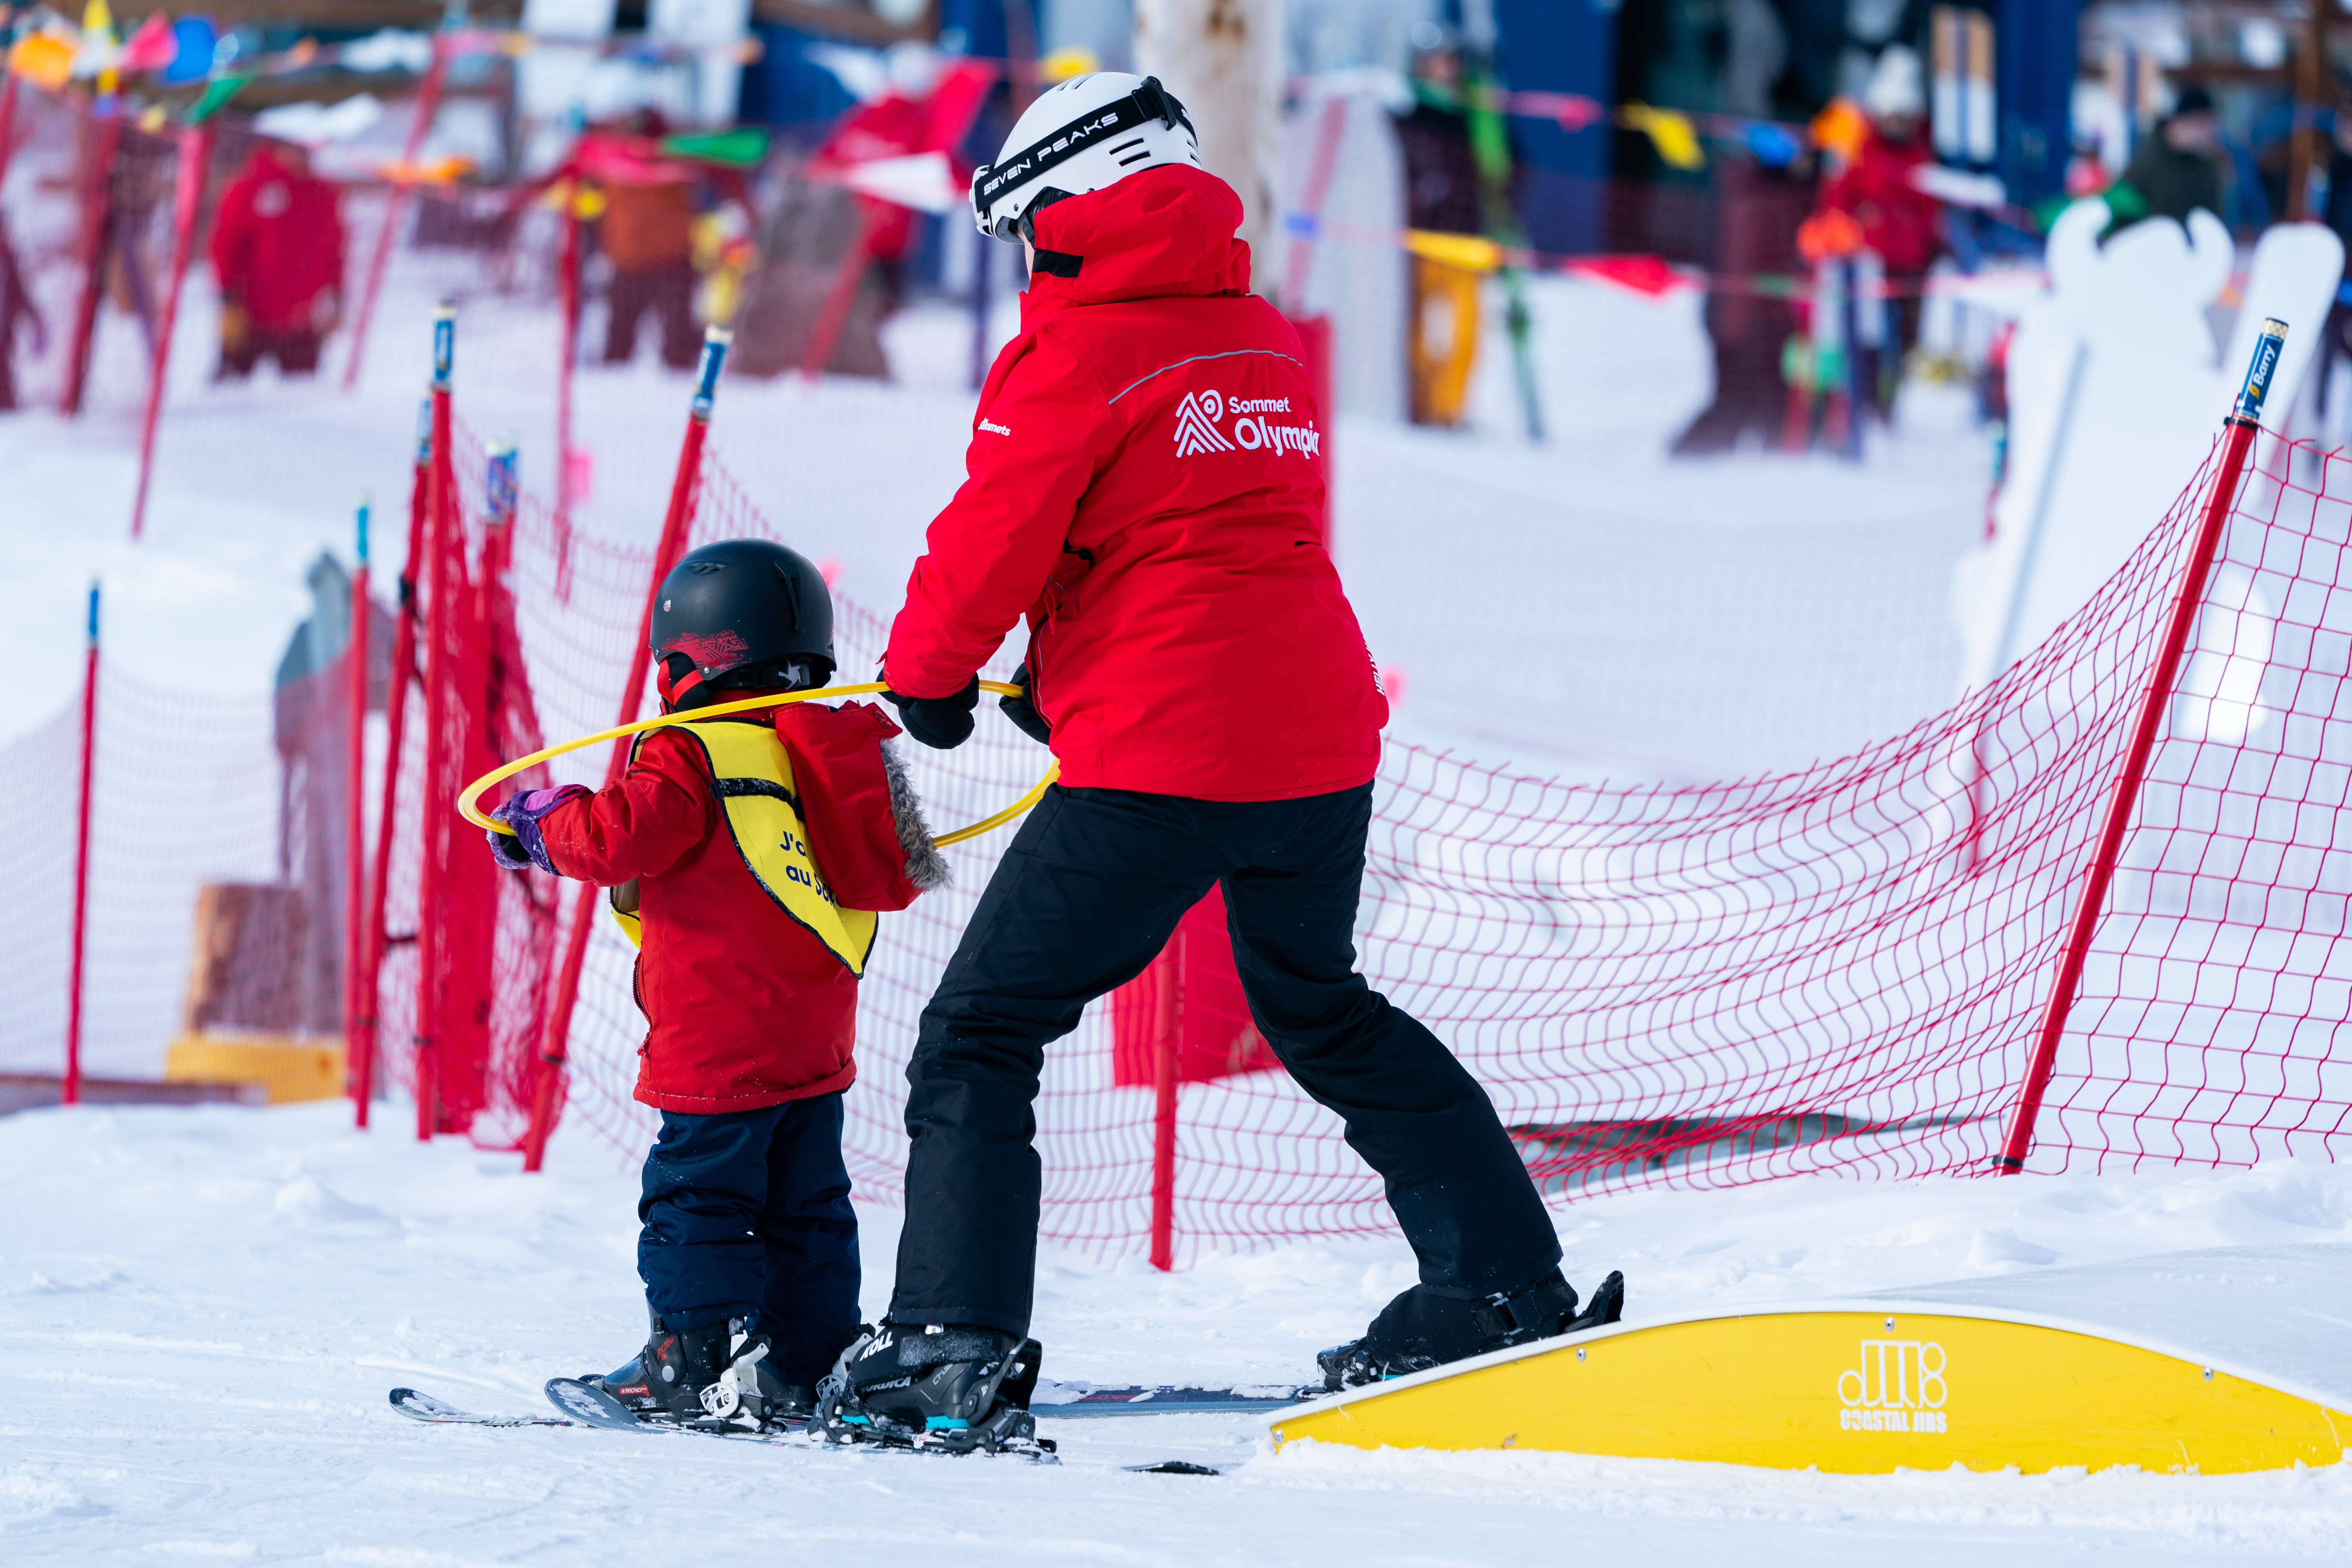
[[1381, 1173], [1421, 1284], [1472, 1298], [1559, 1262], [1486, 1091], [1355, 973], [1369, 827], [1371, 785], [1279, 802], [1047, 790], [922, 1011], [894, 1324], [1028, 1333], [1044, 1048], [1218, 882], [1258, 1032]]

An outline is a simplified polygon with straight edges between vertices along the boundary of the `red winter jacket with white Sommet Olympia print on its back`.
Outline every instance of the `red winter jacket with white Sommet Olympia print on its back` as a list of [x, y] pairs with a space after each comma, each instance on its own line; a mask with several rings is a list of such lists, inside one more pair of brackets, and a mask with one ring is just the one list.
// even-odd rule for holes
[[1037, 214], [1021, 336], [891, 625], [891, 686], [946, 696], [1025, 611], [1065, 785], [1289, 799], [1381, 762], [1388, 703], [1324, 548], [1322, 414], [1298, 334], [1244, 292], [1240, 221], [1181, 165]]

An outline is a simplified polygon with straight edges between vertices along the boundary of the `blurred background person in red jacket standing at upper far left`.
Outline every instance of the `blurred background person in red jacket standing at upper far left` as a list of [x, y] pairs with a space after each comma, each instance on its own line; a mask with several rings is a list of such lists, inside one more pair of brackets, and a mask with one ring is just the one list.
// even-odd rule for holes
[[343, 299], [343, 212], [332, 183], [289, 141], [256, 141], [212, 219], [221, 284], [221, 376], [263, 357], [289, 376], [318, 369]]

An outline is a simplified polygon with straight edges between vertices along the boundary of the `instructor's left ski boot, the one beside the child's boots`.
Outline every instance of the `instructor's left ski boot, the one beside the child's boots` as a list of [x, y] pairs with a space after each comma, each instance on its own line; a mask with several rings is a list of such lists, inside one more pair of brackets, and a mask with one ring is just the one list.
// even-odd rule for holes
[[995, 1328], [858, 1328], [816, 1385], [814, 1425], [828, 1443], [1044, 1458], [1054, 1443], [1028, 1410], [1037, 1359], [1037, 1340]]

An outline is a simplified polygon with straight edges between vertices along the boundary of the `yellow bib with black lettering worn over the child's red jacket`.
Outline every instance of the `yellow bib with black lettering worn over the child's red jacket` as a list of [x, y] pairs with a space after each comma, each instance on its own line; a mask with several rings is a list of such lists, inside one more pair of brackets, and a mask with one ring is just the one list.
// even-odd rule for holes
[[[654, 731], [647, 731], [654, 733]], [[793, 792], [793, 759], [769, 724], [677, 724], [677, 736], [691, 736], [710, 759], [713, 792], [727, 816], [727, 832], [753, 879], [776, 900], [776, 907], [809, 929], [833, 950], [849, 973], [866, 973], [866, 954], [875, 947], [873, 910], [844, 910], [809, 856], [809, 827]], [[644, 745], [644, 736], [630, 745]], [[628, 884], [633, 886], [633, 884]], [[621, 907], [621, 889], [612, 891], [612, 917], [637, 947], [644, 945], [644, 922]]]

